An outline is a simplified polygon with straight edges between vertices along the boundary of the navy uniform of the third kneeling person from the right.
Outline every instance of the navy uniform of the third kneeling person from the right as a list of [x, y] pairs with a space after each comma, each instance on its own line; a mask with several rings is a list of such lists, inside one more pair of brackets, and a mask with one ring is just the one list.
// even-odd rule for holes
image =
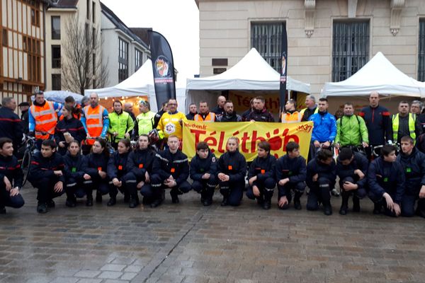
[[[341, 209], [344, 208], [345, 214], [348, 209], [348, 198], [353, 193], [353, 211], [358, 212], [360, 210], [359, 200], [363, 199], [367, 195], [367, 174], [368, 174], [368, 159], [359, 154], [353, 152], [353, 160], [348, 165], [343, 165], [339, 158], [336, 159], [336, 175], [339, 177], [339, 188], [341, 190], [342, 204]], [[354, 171], [360, 170], [365, 176], [361, 179]], [[344, 183], [350, 182], [358, 185], [356, 190], [344, 190]], [[344, 214], [344, 213], [343, 213]]]

